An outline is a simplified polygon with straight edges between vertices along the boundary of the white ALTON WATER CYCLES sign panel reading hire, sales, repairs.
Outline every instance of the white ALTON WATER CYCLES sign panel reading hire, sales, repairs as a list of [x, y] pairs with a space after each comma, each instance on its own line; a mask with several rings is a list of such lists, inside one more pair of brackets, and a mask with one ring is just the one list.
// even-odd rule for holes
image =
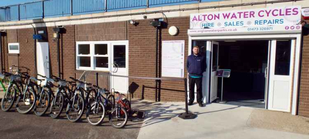
[[190, 29], [296, 25], [300, 6], [190, 14]]

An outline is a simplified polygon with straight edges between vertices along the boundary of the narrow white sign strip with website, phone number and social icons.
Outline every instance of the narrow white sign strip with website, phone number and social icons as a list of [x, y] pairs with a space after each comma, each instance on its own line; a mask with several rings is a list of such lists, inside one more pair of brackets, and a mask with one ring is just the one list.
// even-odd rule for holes
[[214, 35], [219, 34], [276, 34], [276, 33], [300, 33], [302, 25], [285, 26], [260, 26], [260, 27], [227, 27], [227, 28], [207, 28], [207, 29], [189, 29], [188, 35]]

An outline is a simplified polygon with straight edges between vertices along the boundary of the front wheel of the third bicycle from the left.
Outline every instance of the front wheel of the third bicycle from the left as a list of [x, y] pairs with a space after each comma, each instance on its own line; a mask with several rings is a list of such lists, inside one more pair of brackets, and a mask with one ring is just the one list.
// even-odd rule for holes
[[[42, 116], [48, 110], [50, 104], [50, 94], [48, 93], [49, 89], [43, 89], [43, 91], [37, 95], [37, 102], [34, 106], [34, 114], [37, 116]], [[41, 99], [40, 99], [41, 95]]]

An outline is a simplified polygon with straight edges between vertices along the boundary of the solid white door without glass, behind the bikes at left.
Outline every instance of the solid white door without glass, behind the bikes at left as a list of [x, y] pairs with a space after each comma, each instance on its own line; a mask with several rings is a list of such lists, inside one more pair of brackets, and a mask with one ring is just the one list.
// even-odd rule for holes
[[[48, 42], [37, 42], [37, 74], [49, 77]], [[38, 78], [41, 78], [38, 76]]]

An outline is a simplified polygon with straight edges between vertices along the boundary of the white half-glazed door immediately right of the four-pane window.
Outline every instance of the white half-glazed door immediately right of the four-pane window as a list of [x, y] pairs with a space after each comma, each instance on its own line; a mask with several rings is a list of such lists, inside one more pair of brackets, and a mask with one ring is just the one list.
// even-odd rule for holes
[[[111, 66], [112, 75], [128, 76], [128, 41], [111, 43]], [[111, 76], [111, 88], [120, 93], [127, 93], [128, 78]]]

